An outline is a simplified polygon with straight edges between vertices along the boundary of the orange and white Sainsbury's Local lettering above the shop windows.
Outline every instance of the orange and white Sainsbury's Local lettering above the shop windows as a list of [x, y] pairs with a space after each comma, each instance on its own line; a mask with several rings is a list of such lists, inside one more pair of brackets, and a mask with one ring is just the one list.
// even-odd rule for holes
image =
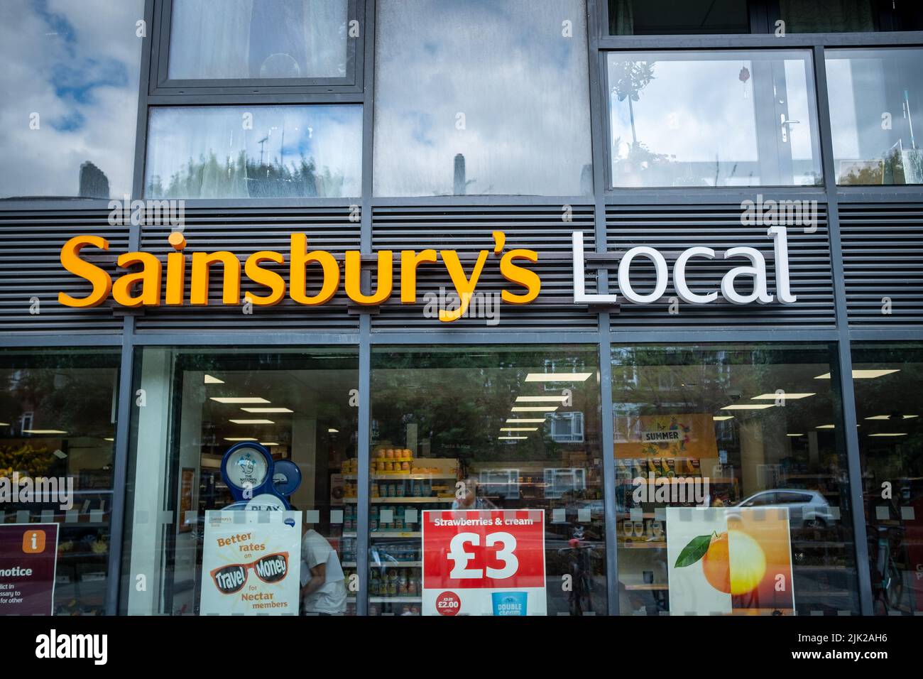
[[[773, 244], [774, 282], [770, 281], [766, 259], [759, 249], [735, 247], [717, 251], [701, 246], [689, 248], [678, 254], [671, 273], [662, 252], [638, 246], [620, 256], [618, 294], [604, 295], [586, 292], [583, 234], [574, 231], [571, 235], [573, 302], [613, 304], [624, 298], [633, 304], [652, 304], [664, 296], [666, 286], [672, 280], [677, 297], [689, 304], [712, 304], [719, 295], [738, 305], [770, 304], [773, 301], [792, 304], [797, 297], [792, 294], [789, 285], [785, 226], [771, 226], [766, 236]], [[493, 238], [494, 248], [480, 250], [469, 271], [462, 264], [459, 253], [452, 249], [402, 250], [397, 255], [391, 250], [379, 250], [376, 289], [364, 291], [360, 283], [364, 259], [361, 252], [347, 250], [341, 265], [329, 251], [309, 249], [307, 236], [300, 233], [291, 235], [288, 252], [260, 250], [242, 262], [229, 250], [194, 252], [187, 256], [183, 251], [186, 248], [185, 236], [174, 232], [169, 236], [174, 251], [167, 254], [165, 264], [150, 252], [125, 252], [118, 255], [116, 263], [126, 272], [115, 278], [84, 257], [91, 250], [108, 250], [109, 242], [102, 236], [74, 236], [61, 249], [61, 264], [68, 272], [90, 283], [92, 289], [85, 297], [59, 292], [58, 301], [67, 307], [78, 308], [98, 306], [110, 297], [116, 304], [129, 308], [208, 306], [210, 271], [214, 266], [221, 266], [223, 305], [249, 303], [265, 307], [278, 304], [287, 296], [306, 307], [317, 307], [329, 302], [337, 293], [341, 278], [347, 297], [355, 304], [377, 306], [395, 293], [400, 294], [402, 304], [415, 304], [417, 271], [421, 266], [439, 266], [441, 262], [460, 300], [460, 304], [453, 308], [440, 308], [438, 311], [439, 321], [451, 322], [465, 314], [488, 261], [489, 265], [498, 267], [500, 275], [509, 283], [501, 292], [504, 302], [529, 304], [538, 297], [542, 280], [530, 265], [538, 263], [539, 253], [533, 249], [506, 249], [506, 236], [501, 231], [493, 232]], [[653, 263], [653, 290], [639, 292], [632, 283], [632, 267], [636, 267], [635, 262], [639, 260]], [[704, 262], [715, 260], [727, 261], [729, 266], [721, 284], [711, 290], [692, 290], [687, 282], [687, 272]], [[272, 264], [276, 266], [270, 268]], [[318, 267], [321, 273], [320, 285], [310, 290], [307, 289], [309, 266]], [[280, 267], [288, 270], [287, 285], [278, 270]], [[399, 278], [397, 284], [395, 273]], [[258, 288], [257, 291], [247, 291], [243, 298], [242, 276]], [[163, 285], [164, 279], [166, 285]]]

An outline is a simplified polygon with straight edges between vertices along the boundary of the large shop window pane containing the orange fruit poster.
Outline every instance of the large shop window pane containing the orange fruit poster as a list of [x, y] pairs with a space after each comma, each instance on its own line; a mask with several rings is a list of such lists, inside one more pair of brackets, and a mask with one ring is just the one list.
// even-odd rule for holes
[[856, 614], [835, 347], [612, 359], [641, 378], [612, 384], [621, 612]]

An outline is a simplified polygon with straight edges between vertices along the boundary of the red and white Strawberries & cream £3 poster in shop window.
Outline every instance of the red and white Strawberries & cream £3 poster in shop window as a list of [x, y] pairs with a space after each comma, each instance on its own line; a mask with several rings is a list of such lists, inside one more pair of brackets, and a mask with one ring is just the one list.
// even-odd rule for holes
[[423, 513], [424, 615], [545, 615], [545, 512]]

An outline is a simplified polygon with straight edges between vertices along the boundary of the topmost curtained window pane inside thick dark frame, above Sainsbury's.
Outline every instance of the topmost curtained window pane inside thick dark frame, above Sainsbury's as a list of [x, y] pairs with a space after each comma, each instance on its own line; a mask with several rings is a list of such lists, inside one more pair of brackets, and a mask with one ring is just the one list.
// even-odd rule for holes
[[171, 79], [343, 78], [346, 0], [174, 0]]

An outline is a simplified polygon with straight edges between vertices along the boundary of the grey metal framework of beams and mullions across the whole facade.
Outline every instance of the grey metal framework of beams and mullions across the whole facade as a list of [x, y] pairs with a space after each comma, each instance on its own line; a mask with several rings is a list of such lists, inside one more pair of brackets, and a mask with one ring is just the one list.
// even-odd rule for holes
[[[167, 2], [168, 0], [162, 0]], [[840, 242], [838, 204], [870, 202], [886, 206], [890, 203], [906, 201], [923, 201], [923, 188], [913, 186], [887, 187], [838, 187], [833, 173], [833, 143], [831, 122], [827, 101], [826, 70], [824, 51], [835, 47], [891, 47], [923, 45], [923, 31], [905, 33], [842, 33], [842, 34], [791, 34], [785, 38], [776, 38], [773, 34], [747, 35], [697, 35], [697, 36], [610, 36], [608, 35], [608, 18], [605, 0], [587, 0], [588, 12], [588, 64], [590, 92], [590, 124], [593, 143], [593, 196], [586, 197], [542, 197], [542, 196], [445, 196], [422, 198], [373, 198], [372, 197], [372, 153], [373, 144], [373, 105], [374, 105], [374, 32], [366, 40], [366, 31], [375, 26], [374, 0], [356, 0], [358, 17], [361, 24], [362, 42], [357, 43], [357, 72], [363, 74], [357, 83], [362, 86], [357, 91], [343, 92], [241, 92], [241, 91], [197, 91], [181, 95], [163, 93], [157, 88], [151, 89], [152, 38], [144, 39], [141, 58], [141, 82], [138, 92], [138, 129], [135, 152], [135, 178], [133, 197], [143, 198], [144, 155], [147, 149], [147, 124], [150, 106], [157, 105], [222, 105], [232, 103], [362, 103], [363, 108], [363, 192], [358, 202], [361, 205], [361, 249], [372, 252], [372, 208], [387, 205], [467, 206], [476, 210], [482, 206], [493, 205], [593, 205], [595, 221], [594, 233], [597, 252], [605, 252], [606, 235], [615, 226], [606, 224], [605, 208], [607, 205], [632, 204], [652, 207], [664, 204], [709, 204], [724, 202], [738, 203], [752, 198], [757, 190], [772, 191], [775, 198], [813, 198], [824, 202], [828, 209], [828, 229], [830, 237], [831, 260], [833, 267], [833, 289], [836, 310], [836, 326], [830, 329], [766, 329], [746, 330], [729, 328], [726, 330], [673, 329], [667, 327], [650, 330], [612, 330], [610, 315], [599, 312], [596, 330], [589, 332], [493, 332], [447, 331], [441, 333], [378, 333], [371, 328], [369, 313], [361, 313], [357, 333], [287, 333], [287, 332], [241, 332], [241, 333], [142, 333], [135, 330], [135, 318], [126, 315], [124, 330], [120, 334], [99, 335], [35, 335], [29, 333], [0, 334], [0, 346], [120, 346], [122, 365], [119, 382], [119, 408], [116, 423], [114, 456], [114, 506], [107, 611], [118, 612], [119, 597], [126, 592], [120, 591], [120, 584], [128, 584], [131, 577], [123, 567], [123, 540], [126, 518], [126, 472], [129, 457], [129, 435], [132, 409], [134, 406], [133, 374], [136, 368], [138, 351], [144, 346], [246, 346], [254, 349], [269, 346], [318, 346], [336, 344], [340, 346], [358, 346], [359, 350], [359, 431], [358, 451], [368, 451], [370, 447], [371, 422], [371, 350], [373, 346], [386, 345], [434, 345], [434, 344], [557, 344], [595, 345], [599, 351], [600, 369], [600, 404], [602, 408], [601, 444], [603, 451], [614, 450], [613, 404], [612, 404], [612, 364], [611, 347], [623, 343], [682, 343], [705, 344], [711, 342], [825, 342], [835, 343], [837, 347], [838, 370], [841, 375], [851, 375], [852, 358], [851, 341], [919, 341], [923, 332], [915, 327], [869, 328], [849, 327], [846, 317], [845, 279], [843, 274], [843, 253]], [[161, 0], [147, 0], [145, 18], [153, 26], [155, 6], [162, 6]], [[160, 16], [160, 15], [158, 15]], [[361, 44], [361, 47], [360, 47]], [[815, 87], [818, 103], [818, 125], [821, 139], [821, 163], [823, 167], [823, 186], [814, 188], [740, 188], [740, 189], [697, 189], [656, 188], [656, 189], [607, 189], [607, 167], [609, 164], [609, 147], [607, 128], [607, 96], [605, 90], [605, 53], [611, 50], [707, 50], [707, 49], [809, 49], [813, 56], [815, 69]], [[361, 51], [359, 51], [361, 50]], [[358, 55], [363, 58], [359, 59]], [[156, 80], [153, 80], [156, 83]], [[349, 209], [350, 200], [187, 200], [189, 209], [197, 207], [219, 207], [234, 210], [245, 207], [259, 207], [272, 211], [282, 207], [341, 205]], [[59, 210], [100, 210], [105, 209], [108, 200], [29, 200], [4, 201], [0, 210], [30, 210], [36, 213]], [[140, 227], [127, 227], [129, 247], [138, 249]], [[598, 271], [599, 292], [608, 288], [609, 273], [605, 268]], [[833, 368], [833, 367], [832, 367]], [[858, 434], [856, 429], [856, 404], [853, 383], [849, 379], [841, 382], [842, 399], [841, 417], [845, 430], [845, 453], [850, 482], [850, 499], [853, 508], [853, 538], [856, 545], [856, 564], [859, 582], [860, 612], [872, 612], [872, 591], [869, 578], [869, 555], [866, 547], [866, 527], [864, 521], [864, 504], [861, 488], [861, 469], [859, 462]], [[368, 487], [368, 456], [358, 455], [358, 482]], [[618, 566], [615, 521], [615, 458], [603, 455], [604, 469], [604, 507], [605, 507], [605, 549], [606, 549], [606, 588], [608, 612], [617, 615], [618, 610]], [[360, 591], [367, 592], [368, 581], [368, 509], [367, 493], [358, 499], [358, 564]], [[125, 601], [123, 601], [125, 603]], [[367, 612], [367, 599], [360, 596], [357, 600], [357, 612]]]

